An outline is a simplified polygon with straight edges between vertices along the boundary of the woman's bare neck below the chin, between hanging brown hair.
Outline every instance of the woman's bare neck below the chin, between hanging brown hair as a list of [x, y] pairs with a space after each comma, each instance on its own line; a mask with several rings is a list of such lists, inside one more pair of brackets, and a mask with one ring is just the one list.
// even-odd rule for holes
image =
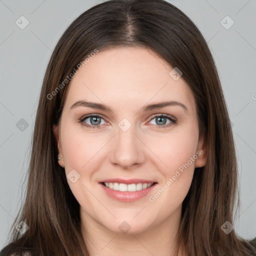
[[138, 233], [117, 233], [97, 222], [80, 207], [83, 239], [93, 256], [180, 256], [175, 254], [181, 205], [171, 216]]

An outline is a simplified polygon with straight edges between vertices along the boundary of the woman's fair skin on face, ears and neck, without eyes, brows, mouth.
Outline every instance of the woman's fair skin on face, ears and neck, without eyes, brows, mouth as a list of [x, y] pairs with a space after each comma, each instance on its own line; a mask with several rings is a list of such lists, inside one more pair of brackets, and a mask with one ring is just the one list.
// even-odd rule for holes
[[[80, 177], [71, 191], [80, 204], [81, 226], [90, 255], [174, 255], [181, 205], [194, 168], [205, 165], [206, 145], [199, 136], [196, 105], [182, 79], [174, 80], [172, 67], [154, 52], [141, 47], [117, 47], [97, 53], [68, 85], [60, 126], [53, 126], [59, 148], [59, 164], [65, 173], [75, 169]], [[78, 106], [77, 100], [108, 105], [112, 111]], [[147, 104], [176, 100], [184, 104], [141, 110]], [[166, 126], [151, 120], [169, 114], [176, 123]], [[78, 120], [100, 114], [100, 128], [88, 128]], [[118, 123], [126, 118], [131, 127]], [[90, 118], [83, 122], [94, 125]], [[165, 128], [163, 126], [166, 126]], [[200, 151], [200, 156], [153, 202], [156, 193], [175, 171]], [[119, 202], [103, 191], [106, 178], [142, 178], [157, 182], [153, 192], [133, 202]], [[118, 226], [126, 221], [127, 233]], [[86, 233], [86, 236], [85, 236]], [[125, 249], [124, 249], [125, 248]], [[96, 254], [97, 253], [97, 254]], [[179, 254], [181, 255], [181, 253]]]

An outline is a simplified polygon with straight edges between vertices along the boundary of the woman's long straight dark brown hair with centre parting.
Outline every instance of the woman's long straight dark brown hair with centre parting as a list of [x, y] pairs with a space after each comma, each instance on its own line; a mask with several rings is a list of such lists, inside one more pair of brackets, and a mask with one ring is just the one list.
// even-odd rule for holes
[[[239, 202], [237, 166], [227, 108], [207, 43], [182, 11], [164, 0], [110, 0], [78, 16], [52, 53], [36, 112], [25, 202], [1, 256], [23, 251], [40, 256], [89, 255], [81, 235], [80, 205], [57, 162], [52, 126], [61, 116], [66, 77], [78, 71], [78, 64], [95, 49], [118, 46], [150, 48], [178, 67], [196, 101], [208, 160], [195, 169], [182, 203], [179, 245], [188, 255], [252, 255], [248, 241], [234, 230], [229, 234], [221, 230], [225, 221], [233, 222]], [[20, 221], [29, 227], [22, 234], [15, 228]]]

